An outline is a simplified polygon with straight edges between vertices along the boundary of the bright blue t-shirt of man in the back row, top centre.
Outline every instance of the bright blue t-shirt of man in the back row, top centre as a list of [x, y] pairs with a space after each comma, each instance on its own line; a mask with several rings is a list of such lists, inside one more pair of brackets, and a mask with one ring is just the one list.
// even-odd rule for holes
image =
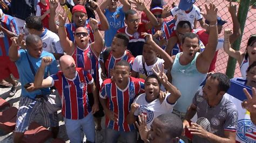
[[107, 18], [107, 22], [109, 22], [109, 30], [105, 31], [104, 39], [105, 45], [110, 47], [117, 30], [124, 27], [125, 13], [123, 11], [123, 7], [118, 7], [115, 12], [110, 12], [109, 9], [105, 9], [105, 16]]

